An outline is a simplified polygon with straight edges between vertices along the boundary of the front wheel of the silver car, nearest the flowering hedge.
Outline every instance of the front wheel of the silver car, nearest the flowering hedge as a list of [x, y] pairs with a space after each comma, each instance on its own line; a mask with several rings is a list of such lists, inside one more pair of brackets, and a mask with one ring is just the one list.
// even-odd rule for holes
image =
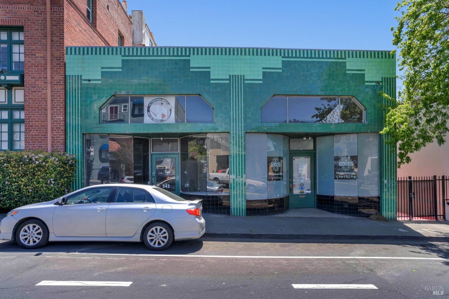
[[[21, 236], [23, 238], [21, 238]], [[31, 236], [31, 238], [28, 236]], [[19, 225], [15, 237], [16, 242], [22, 248], [40, 248], [47, 245], [48, 243], [48, 228], [47, 225], [45, 225], [45, 223], [43, 221], [40, 221], [39, 219], [27, 220]]]

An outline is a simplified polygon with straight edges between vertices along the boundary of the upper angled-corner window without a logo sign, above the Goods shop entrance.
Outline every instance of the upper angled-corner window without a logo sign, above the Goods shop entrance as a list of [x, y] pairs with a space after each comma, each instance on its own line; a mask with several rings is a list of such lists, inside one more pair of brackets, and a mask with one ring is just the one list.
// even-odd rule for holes
[[261, 121], [364, 123], [365, 108], [352, 96], [273, 96], [261, 108]]

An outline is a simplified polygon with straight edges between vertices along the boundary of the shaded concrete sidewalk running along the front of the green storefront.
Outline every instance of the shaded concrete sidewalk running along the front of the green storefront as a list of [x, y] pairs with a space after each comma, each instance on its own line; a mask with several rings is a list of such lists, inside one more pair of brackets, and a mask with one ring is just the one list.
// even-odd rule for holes
[[233, 217], [203, 215], [203, 238], [359, 240], [389, 239], [449, 242], [449, 221], [373, 221], [361, 217]]

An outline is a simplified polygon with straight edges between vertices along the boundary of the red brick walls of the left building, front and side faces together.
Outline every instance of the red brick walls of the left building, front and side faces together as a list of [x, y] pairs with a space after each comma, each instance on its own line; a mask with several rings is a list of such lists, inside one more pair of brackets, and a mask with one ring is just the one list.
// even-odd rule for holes
[[[95, 1], [95, 0], [94, 0]], [[65, 46], [115, 46], [118, 32], [132, 45], [132, 23], [117, 0], [97, 0], [96, 23], [85, 0], [52, 0], [52, 148], [66, 149]], [[109, 5], [109, 10], [107, 9]], [[1, 0], [0, 26], [23, 26], [25, 148], [47, 149], [47, 31], [45, 0]]]

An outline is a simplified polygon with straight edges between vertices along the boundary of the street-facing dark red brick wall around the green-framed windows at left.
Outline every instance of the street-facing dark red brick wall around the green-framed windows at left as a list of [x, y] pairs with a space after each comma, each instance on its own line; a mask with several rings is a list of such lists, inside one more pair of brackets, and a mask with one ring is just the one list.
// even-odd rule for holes
[[[47, 149], [47, 55], [45, 0], [2, 0], [0, 26], [23, 26], [25, 48], [25, 148]], [[8, 2], [9, 4], [5, 4]], [[15, 4], [19, 3], [19, 4]], [[63, 47], [63, 7], [52, 1], [52, 106], [54, 122], [61, 126], [65, 114], [61, 100], [65, 99], [65, 65]], [[65, 116], [63, 117], [65, 118]], [[64, 119], [65, 123], [65, 119]], [[64, 125], [65, 126], [65, 125]], [[54, 148], [65, 150], [65, 128], [53, 130]]]

